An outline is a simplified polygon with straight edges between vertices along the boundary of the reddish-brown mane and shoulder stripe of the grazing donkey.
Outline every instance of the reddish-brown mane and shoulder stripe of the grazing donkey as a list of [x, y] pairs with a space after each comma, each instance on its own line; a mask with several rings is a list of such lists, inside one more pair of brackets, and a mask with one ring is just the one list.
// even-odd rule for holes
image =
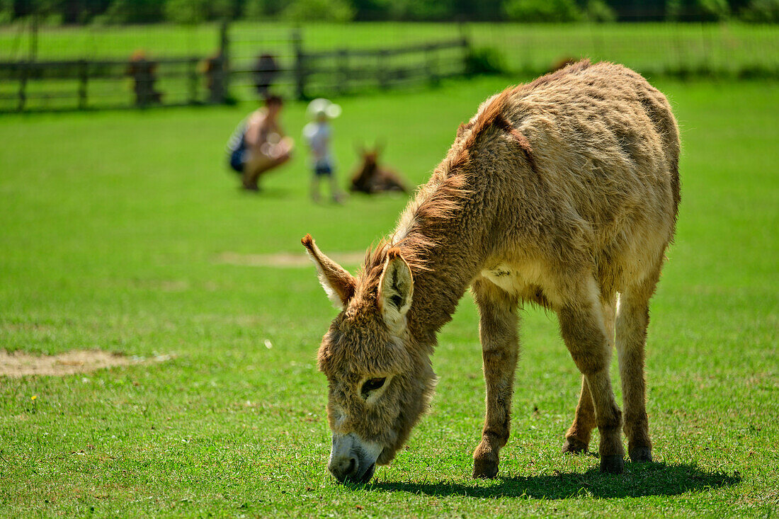
[[402, 251], [402, 256], [412, 272], [432, 270], [425, 258], [428, 252], [439, 244], [435, 238], [426, 234], [425, 230], [435, 228], [436, 221], [441, 223], [449, 220], [467, 199], [469, 191], [464, 188], [467, 183], [466, 166], [471, 163], [473, 151], [478, 148], [479, 141], [488, 134], [489, 129], [497, 129], [510, 136], [530, 169], [537, 171], [530, 142], [506, 116], [509, 101], [513, 97], [527, 95], [538, 87], [589, 67], [590, 61], [584, 59], [541, 76], [531, 83], [506, 88], [493, 97], [473, 121], [461, 124], [446, 158], [435, 168], [430, 181], [418, 189], [414, 200], [401, 214], [393, 235], [382, 239], [366, 252], [359, 274], [363, 289], [371, 293], [374, 286], [379, 286], [384, 263], [390, 255], [390, 250], [396, 247]]

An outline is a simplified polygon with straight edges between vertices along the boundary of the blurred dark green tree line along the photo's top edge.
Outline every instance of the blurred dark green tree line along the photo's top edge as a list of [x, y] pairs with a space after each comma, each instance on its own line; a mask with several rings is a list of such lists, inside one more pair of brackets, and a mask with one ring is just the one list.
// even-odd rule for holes
[[289, 21], [724, 21], [779, 23], [779, 0], [0, 0], [0, 23]]

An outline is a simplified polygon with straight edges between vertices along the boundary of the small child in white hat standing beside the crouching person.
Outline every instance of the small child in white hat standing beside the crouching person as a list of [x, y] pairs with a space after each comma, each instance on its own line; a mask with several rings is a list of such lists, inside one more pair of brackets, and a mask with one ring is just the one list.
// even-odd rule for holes
[[312, 119], [305, 125], [303, 136], [311, 148], [311, 165], [314, 177], [311, 183], [311, 198], [319, 202], [319, 181], [323, 177], [330, 179], [330, 196], [333, 202], [340, 203], [341, 194], [334, 175], [333, 157], [330, 154], [330, 136], [333, 130], [330, 128], [330, 119], [340, 115], [340, 106], [326, 99], [315, 99], [308, 104], [308, 118]]

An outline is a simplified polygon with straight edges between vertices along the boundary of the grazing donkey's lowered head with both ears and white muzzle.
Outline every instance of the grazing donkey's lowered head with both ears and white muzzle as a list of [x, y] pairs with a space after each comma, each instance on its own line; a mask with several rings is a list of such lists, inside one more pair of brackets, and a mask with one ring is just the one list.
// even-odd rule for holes
[[400, 249], [383, 249], [359, 277], [330, 260], [310, 235], [302, 240], [319, 282], [341, 309], [319, 347], [327, 376], [333, 449], [327, 468], [340, 481], [368, 482], [388, 464], [428, 407], [435, 374], [407, 326], [414, 295]]

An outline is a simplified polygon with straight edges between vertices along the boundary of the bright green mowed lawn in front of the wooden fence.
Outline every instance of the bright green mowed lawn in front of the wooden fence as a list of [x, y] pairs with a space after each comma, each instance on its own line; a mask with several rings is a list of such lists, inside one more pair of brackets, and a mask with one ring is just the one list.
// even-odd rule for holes
[[[422, 182], [507, 83], [340, 100], [341, 180], [355, 144], [380, 138], [386, 162]], [[302, 148], [259, 196], [239, 192], [223, 149], [249, 105], [2, 116], [0, 348], [171, 358], [0, 377], [0, 515], [776, 514], [779, 85], [655, 84], [682, 130], [682, 207], [647, 348], [655, 463], [616, 476], [559, 454], [580, 376], [555, 315], [528, 309], [499, 477], [471, 479], [484, 382], [466, 295], [407, 448], [370, 485], [338, 485], [315, 366], [335, 310], [312, 266], [252, 263], [302, 252], [306, 232], [328, 253], [364, 250], [406, 199], [315, 205]], [[304, 111], [287, 106], [293, 136]]]

